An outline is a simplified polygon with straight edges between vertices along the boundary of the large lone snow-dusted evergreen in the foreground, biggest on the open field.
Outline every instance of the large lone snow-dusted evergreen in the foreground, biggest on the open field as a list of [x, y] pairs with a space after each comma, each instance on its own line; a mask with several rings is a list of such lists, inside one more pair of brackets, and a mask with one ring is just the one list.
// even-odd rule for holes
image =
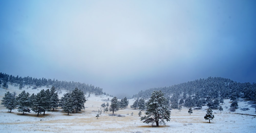
[[166, 121], [170, 121], [170, 111], [168, 109], [168, 101], [164, 97], [164, 93], [160, 91], [153, 91], [151, 94], [150, 99], [148, 100], [146, 104], [146, 115], [141, 117], [141, 121], [143, 123], [156, 123], [156, 126], [158, 127], [159, 124], [164, 124]]

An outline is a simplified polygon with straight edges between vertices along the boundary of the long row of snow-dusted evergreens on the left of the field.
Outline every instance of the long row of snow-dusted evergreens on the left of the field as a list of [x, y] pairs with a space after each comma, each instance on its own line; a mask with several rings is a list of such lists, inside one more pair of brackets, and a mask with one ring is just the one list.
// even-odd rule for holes
[[56, 92], [56, 88], [54, 86], [51, 89], [47, 89], [46, 91], [43, 89], [37, 94], [30, 95], [28, 92], [22, 91], [18, 96], [16, 93], [5, 93], [2, 99], [2, 105], [4, 105], [10, 112], [13, 109], [18, 107], [19, 112], [30, 112], [31, 110], [37, 113], [50, 111], [51, 109], [58, 109], [61, 107], [64, 112], [74, 112], [74, 110], [81, 111], [81, 109], [85, 109], [84, 103], [86, 102], [86, 98], [84, 93], [75, 88], [71, 93], [64, 94], [61, 99], [58, 98], [58, 93]]

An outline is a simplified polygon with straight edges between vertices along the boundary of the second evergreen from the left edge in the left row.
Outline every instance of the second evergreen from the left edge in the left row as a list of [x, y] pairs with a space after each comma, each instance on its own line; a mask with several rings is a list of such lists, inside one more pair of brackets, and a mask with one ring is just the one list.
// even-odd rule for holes
[[18, 97], [17, 97], [17, 107], [18, 107], [18, 111], [19, 112], [29, 112], [30, 113], [30, 109], [29, 107], [31, 107], [31, 102], [30, 102], [30, 94], [25, 91], [22, 91]]

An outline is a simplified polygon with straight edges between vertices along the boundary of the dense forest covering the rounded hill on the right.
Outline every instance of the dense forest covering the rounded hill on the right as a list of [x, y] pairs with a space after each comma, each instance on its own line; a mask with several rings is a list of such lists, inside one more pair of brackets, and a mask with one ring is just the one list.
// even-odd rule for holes
[[[149, 98], [153, 90], [161, 90], [166, 96], [175, 96], [184, 100], [188, 97], [195, 99], [216, 98], [246, 98], [256, 101], [256, 83], [239, 83], [227, 78], [209, 77], [169, 87], [150, 88], [133, 95], [133, 98]], [[183, 94], [183, 95], [182, 95]]]

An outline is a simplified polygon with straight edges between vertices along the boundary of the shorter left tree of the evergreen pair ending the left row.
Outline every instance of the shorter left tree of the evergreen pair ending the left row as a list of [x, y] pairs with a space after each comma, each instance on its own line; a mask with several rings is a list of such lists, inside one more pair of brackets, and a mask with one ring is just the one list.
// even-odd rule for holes
[[73, 104], [74, 98], [72, 97], [71, 93], [64, 94], [63, 97], [60, 99], [60, 106], [63, 109], [64, 112], [72, 113], [74, 110], [74, 104]]

